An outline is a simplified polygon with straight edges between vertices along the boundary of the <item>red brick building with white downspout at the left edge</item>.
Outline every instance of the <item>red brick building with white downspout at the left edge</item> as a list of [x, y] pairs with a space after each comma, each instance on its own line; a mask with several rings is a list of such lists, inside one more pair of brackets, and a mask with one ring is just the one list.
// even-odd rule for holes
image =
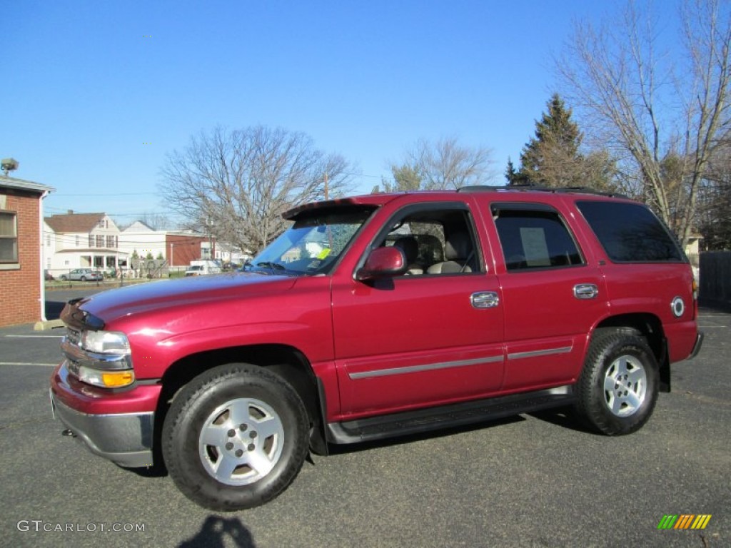
[[41, 232], [52, 190], [0, 175], [0, 327], [45, 319]]

